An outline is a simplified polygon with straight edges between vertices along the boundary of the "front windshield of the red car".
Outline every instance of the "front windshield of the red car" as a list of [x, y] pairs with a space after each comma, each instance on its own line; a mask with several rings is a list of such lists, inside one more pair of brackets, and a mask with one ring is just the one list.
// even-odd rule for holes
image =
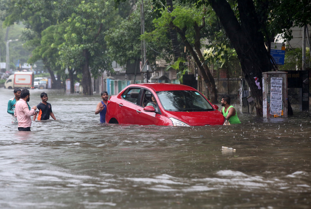
[[197, 91], [158, 91], [157, 95], [167, 111], [213, 111], [211, 104]]

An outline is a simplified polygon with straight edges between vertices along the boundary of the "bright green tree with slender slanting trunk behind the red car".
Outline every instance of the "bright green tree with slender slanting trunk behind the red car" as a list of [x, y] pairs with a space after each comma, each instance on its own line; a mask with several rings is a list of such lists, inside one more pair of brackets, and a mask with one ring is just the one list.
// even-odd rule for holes
[[[165, 9], [160, 13], [161, 17], [154, 21], [156, 29], [151, 33], [146, 33], [143, 37], [150, 42], [155, 42], [158, 39], [165, 39], [165, 34], [174, 29], [179, 34], [183, 45], [186, 46], [187, 52], [197, 64], [209, 89], [211, 102], [215, 103], [217, 102], [215, 80], [201, 51], [204, 46], [203, 41], [207, 38], [206, 21], [215, 22], [212, 15], [206, 18], [206, 12], [207, 10], [203, 6], [197, 9], [191, 6], [176, 6], [173, 11]], [[202, 37], [203, 35], [205, 37]]]

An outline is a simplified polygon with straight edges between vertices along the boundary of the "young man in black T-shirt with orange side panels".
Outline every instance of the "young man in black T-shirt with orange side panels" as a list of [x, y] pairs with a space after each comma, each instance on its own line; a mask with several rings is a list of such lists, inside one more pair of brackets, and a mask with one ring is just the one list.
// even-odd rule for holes
[[37, 115], [38, 115], [38, 120], [49, 120], [50, 116], [54, 120], [56, 120], [54, 113], [52, 112], [52, 105], [49, 102], [47, 102], [48, 101], [48, 94], [46, 94], [45, 92], [42, 92], [40, 94], [40, 97], [41, 97], [42, 102], [40, 102], [37, 105], [39, 113], [38, 112], [35, 113], [33, 120], [34, 121], [36, 120]]

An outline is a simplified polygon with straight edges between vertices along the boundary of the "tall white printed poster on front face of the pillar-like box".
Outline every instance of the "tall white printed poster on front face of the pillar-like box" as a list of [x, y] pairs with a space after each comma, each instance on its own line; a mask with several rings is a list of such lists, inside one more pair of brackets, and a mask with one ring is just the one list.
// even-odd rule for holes
[[282, 81], [283, 78], [271, 78], [271, 90], [270, 90], [270, 114], [279, 115], [282, 114]]

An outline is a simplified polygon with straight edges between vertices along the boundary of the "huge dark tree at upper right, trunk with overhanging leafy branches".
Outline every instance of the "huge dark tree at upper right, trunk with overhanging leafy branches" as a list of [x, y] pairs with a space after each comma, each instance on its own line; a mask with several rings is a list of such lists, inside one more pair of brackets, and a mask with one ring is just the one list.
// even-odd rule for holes
[[[117, 3], [119, 0], [115, 0]], [[245, 79], [255, 99], [257, 115], [262, 115], [262, 90], [258, 89], [254, 77], [261, 83], [262, 72], [273, 69], [269, 42], [280, 32], [290, 37], [291, 26], [310, 24], [310, 3], [302, 1], [262, 0], [180, 0], [181, 2], [210, 5], [219, 18], [231, 45], [234, 47]], [[154, 0], [155, 11], [165, 9], [165, 0]], [[185, 20], [186, 21], [186, 20]], [[261, 84], [262, 85], [262, 84]]]

